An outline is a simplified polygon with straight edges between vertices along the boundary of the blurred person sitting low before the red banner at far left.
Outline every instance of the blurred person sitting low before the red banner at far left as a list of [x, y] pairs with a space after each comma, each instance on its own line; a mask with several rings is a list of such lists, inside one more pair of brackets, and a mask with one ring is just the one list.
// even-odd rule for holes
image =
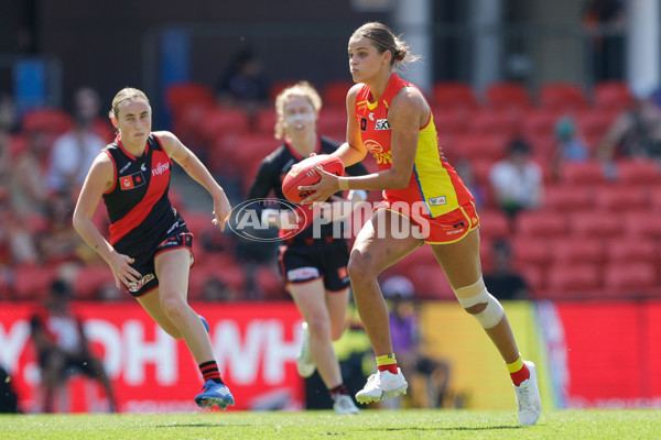
[[57, 279], [44, 304], [31, 318], [32, 341], [36, 351], [43, 385], [43, 411], [53, 411], [55, 394], [62, 392], [67, 377], [83, 373], [98, 380], [108, 397], [108, 409], [117, 410], [112, 386], [102, 361], [89, 349], [83, 321], [69, 305], [71, 286]]

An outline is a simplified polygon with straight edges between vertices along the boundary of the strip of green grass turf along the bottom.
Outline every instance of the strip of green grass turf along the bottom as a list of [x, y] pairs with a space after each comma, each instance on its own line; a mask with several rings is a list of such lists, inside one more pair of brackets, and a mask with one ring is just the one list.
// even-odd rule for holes
[[514, 411], [364, 410], [155, 415], [2, 415], [0, 439], [659, 439], [658, 410], [556, 410], [533, 427]]

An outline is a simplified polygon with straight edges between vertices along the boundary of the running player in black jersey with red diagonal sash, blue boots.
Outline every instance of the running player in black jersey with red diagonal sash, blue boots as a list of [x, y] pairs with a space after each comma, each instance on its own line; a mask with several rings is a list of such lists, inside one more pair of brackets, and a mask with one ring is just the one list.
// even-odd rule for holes
[[[214, 198], [214, 223], [225, 229], [231, 207], [223, 188], [172, 133], [152, 132], [147, 96], [134, 88], [112, 100], [117, 139], [94, 161], [74, 211], [74, 227], [110, 266], [138, 302], [174, 339], [184, 339], [204, 378], [201, 407], [225, 409], [235, 400], [223, 384], [207, 334], [208, 324], [188, 306], [192, 241], [167, 197], [173, 160]], [[91, 221], [100, 199], [110, 218], [110, 242]]]

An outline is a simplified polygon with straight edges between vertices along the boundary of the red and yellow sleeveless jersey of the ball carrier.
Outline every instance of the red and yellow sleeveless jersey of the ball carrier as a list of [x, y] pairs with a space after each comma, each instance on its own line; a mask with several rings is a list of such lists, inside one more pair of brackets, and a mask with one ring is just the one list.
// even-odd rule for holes
[[[362, 86], [356, 97], [356, 118], [362, 144], [375, 156], [380, 170], [392, 166], [388, 111], [392, 98], [403, 87], [415, 86], [392, 74], [383, 96], [378, 101], [370, 101], [371, 94], [367, 86]], [[443, 216], [473, 201], [473, 196], [443, 156], [431, 112], [430, 120], [420, 129], [409, 186], [404, 189], [384, 190], [383, 199], [407, 204], [422, 201], [425, 213], [431, 218]]]

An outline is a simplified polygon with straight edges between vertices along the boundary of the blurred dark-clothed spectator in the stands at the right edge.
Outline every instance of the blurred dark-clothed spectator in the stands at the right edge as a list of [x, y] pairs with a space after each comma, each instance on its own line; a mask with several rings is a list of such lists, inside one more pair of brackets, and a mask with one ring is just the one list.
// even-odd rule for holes
[[618, 157], [661, 161], [661, 110], [649, 94], [636, 92], [631, 107], [615, 119], [599, 142], [597, 157], [607, 163]]

